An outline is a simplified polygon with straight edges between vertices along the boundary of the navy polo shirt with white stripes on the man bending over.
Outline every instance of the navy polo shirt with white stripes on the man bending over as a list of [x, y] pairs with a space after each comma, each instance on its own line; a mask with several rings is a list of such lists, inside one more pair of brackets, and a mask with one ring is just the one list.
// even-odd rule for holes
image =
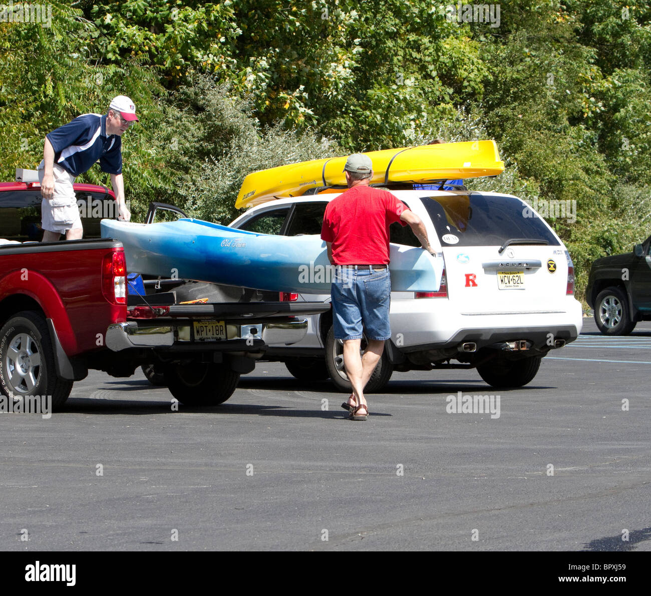
[[97, 160], [103, 172], [122, 173], [122, 139], [106, 134], [106, 114], [83, 114], [47, 135], [54, 163], [74, 177], [89, 171]]

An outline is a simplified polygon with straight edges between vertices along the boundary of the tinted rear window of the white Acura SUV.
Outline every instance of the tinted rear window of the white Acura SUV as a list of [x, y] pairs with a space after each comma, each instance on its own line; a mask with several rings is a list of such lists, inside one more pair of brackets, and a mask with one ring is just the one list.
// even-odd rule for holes
[[510, 238], [546, 240], [549, 246], [560, 246], [543, 221], [514, 197], [471, 193], [421, 197], [421, 201], [441, 246], [501, 246]]

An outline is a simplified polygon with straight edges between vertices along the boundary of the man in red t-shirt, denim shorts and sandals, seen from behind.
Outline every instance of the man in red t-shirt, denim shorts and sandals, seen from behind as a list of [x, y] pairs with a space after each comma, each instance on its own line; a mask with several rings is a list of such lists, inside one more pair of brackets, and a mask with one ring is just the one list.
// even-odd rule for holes
[[[321, 238], [335, 265], [331, 285], [335, 339], [344, 343], [344, 367], [353, 393], [348, 403], [353, 420], [368, 418], [364, 388], [391, 337], [389, 304], [389, 226], [409, 225], [431, 252], [421, 218], [386, 190], [370, 188], [373, 165], [367, 155], [351, 155], [344, 167], [348, 190], [330, 201], [324, 214]], [[362, 332], [367, 347], [359, 355]]]

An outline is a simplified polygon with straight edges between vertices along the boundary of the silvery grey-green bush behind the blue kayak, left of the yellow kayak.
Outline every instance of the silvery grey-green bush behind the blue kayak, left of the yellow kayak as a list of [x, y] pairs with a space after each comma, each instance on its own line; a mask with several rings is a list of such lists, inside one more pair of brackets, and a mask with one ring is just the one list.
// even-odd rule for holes
[[337, 145], [309, 130], [263, 127], [251, 117], [249, 102], [227, 85], [197, 76], [174, 95], [182, 115], [175, 122], [178, 143], [172, 159], [180, 173], [174, 202], [189, 214], [229, 223], [240, 186], [253, 171], [337, 154]]

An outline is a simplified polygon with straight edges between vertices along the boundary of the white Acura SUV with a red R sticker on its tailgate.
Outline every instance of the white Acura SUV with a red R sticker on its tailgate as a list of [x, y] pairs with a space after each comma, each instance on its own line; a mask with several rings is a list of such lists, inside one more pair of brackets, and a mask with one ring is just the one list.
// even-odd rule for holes
[[[391, 292], [391, 339], [367, 391], [393, 371], [477, 367], [496, 387], [530, 382], [543, 356], [581, 332], [574, 265], [560, 238], [521, 199], [473, 191], [385, 187], [425, 223], [444, 277], [437, 292]], [[405, 188], [405, 185], [402, 186]], [[254, 206], [230, 227], [266, 234], [320, 234], [328, 201], [339, 193], [303, 195]], [[391, 242], [420, 246], [409, 227], [391, 226]], [[329, 302], [329, 294], [285, 294]], [[325, 356], [325, 358], [324, 358]], [[350, 391], [332, 313], [313, 315], [308, 333], [266, 353], [292, 375], [327, 378]]]

